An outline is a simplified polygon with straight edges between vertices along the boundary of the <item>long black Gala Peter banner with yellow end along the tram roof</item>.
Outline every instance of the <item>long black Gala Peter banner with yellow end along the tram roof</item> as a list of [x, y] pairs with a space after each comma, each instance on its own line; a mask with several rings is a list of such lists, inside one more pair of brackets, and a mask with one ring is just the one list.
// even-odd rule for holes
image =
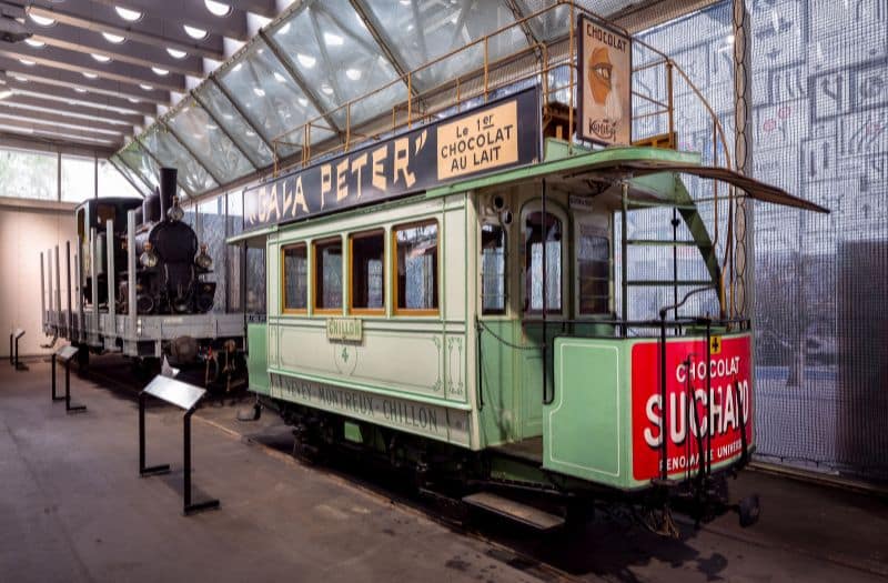
[[539, 160], [534, 87], [244, 190], [244, 230], [418, 193]]

